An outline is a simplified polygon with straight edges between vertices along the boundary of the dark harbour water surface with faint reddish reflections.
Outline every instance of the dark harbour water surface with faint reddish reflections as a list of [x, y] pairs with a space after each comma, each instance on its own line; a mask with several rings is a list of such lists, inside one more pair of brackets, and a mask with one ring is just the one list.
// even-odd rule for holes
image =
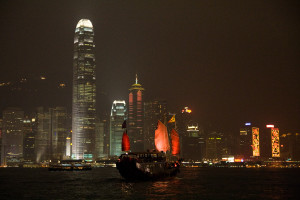
[[0, 168], [0, 199], [300, 199], [299, 178], [300, 169], [182, 168], [175, 178], [126, 182], [116, 168]]

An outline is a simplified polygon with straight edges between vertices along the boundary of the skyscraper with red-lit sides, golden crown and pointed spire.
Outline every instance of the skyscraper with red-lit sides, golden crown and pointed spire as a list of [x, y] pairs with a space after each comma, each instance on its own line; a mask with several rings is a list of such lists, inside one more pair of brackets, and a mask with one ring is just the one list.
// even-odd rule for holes
[[144, 151], [144, 88], [138, 83], [136, 75], [135, 83], [129, 89], [128, 123], [127, 130], [130, 139], [131, 151]]

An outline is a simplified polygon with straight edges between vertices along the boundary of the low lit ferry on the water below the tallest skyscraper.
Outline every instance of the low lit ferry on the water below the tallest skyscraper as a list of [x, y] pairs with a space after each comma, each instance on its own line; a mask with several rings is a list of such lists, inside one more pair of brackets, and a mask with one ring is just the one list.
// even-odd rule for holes
[[85, 160], [61, 160], [59, 163], [50, 164], [49, 171], [81, 171], [91, 170], [90, 164], [86, 163]]

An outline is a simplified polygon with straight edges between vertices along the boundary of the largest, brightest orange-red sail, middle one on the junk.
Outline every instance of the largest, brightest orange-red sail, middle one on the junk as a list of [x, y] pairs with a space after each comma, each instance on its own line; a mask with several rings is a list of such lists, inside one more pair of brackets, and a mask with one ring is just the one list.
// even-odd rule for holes
[[159, 120], [155, 130], [155, 147], [158, 151], [167, 152], [170, 150], [167, 127]]

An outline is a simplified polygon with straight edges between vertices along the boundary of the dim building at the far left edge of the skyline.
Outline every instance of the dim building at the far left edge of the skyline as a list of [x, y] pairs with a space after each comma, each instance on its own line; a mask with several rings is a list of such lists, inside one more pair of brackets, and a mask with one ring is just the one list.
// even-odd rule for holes
[[3, 111], [2, 165], [16, 166], [23, 158], [23, 120], [20, 108], [7, 108]]

